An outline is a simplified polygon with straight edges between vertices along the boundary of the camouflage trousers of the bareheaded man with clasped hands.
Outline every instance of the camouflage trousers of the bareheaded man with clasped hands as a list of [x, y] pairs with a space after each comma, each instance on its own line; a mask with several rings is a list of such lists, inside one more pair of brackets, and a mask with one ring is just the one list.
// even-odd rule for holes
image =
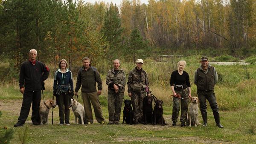
[[124, 92], [118, 92], [118, 93], [108, 92], [109, 122], [112, 122], [112, 123], [119, 122], [123, 98], [124, 98]]

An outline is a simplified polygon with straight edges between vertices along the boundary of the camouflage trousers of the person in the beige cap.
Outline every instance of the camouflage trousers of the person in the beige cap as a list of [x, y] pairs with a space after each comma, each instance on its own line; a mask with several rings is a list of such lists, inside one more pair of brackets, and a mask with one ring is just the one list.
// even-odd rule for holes
[[134, 121], [143, 120], [143, 99], [146, 96], [146, 92], [131, 92], [131, 104], [134, 112]]

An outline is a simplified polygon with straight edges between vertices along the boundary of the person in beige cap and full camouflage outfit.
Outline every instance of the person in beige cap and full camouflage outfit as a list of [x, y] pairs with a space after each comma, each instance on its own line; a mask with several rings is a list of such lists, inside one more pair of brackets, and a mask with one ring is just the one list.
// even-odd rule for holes
[[128, 75], [128, 95], [134, 111], [134, 124], [143, 123], [143, 99], [150, 95], [148, 75], [142, 69], [143, 63], [142, 59], [137, 59], [136, 67]]

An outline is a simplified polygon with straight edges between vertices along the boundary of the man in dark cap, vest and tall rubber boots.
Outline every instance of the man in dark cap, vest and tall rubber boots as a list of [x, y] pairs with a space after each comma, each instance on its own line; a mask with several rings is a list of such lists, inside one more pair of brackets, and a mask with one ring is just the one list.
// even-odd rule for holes
[[206, 56], [201, 58], [201, 65], [195, 71], [194, 83], [197, 86], [197, 94], [200, 103], [200, 111], [204, 120], [203, 127], [207, 127], [207, 102], [212, 108], [216, 126], [224, 128], [220, 123], [218, 104], [215, 98], [214, 85], [218, 82], [218, 74], [215, 67], [211, 66]]

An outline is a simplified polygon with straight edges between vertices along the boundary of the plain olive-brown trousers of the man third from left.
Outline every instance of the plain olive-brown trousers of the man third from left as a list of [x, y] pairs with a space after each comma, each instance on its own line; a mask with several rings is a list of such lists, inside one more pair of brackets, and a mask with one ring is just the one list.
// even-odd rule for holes
[[96, 92], [82, 92], [82, 98], [84, 102], [84, 111], [85, 111], [85, 118], [86, 120], [93, 123], [93, 112], [91, 108], [91, 104], [93, 105], [95, 118], [96, 120], [101, 123], [105, 121], [102, 116], [102, 108], [99, 102], [99, 96], [97, 91]]

